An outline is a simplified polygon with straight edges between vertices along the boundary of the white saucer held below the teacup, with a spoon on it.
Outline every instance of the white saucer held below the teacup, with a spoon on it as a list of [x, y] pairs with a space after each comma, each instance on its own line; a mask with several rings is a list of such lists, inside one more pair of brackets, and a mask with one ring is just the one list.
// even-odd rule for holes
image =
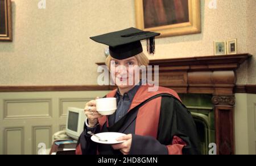
[[126, 134], [123, 134], [121, 132], [100, 132], [96, 134], [97, 136], [100, 136], [101, 139], [106, 139], [108, 141], [100, 141], [96, 136], [92, 136], [90, 139], [92, 139], [93, 142], [102, 143], [102, 144], [117, 144], [125, 142], [125, 140], [117, 141], [116, 138], [120, 136], [124, 136]]

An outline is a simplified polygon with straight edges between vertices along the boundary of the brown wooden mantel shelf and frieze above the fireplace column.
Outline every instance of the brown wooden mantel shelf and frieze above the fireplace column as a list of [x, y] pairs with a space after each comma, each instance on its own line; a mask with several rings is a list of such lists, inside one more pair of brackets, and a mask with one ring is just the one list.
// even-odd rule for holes
[[236, 69], [250, 56], [245, 53], [152, 60], [150, 65], [159, 65], [159, 85], [178, 93], [232, 95]]

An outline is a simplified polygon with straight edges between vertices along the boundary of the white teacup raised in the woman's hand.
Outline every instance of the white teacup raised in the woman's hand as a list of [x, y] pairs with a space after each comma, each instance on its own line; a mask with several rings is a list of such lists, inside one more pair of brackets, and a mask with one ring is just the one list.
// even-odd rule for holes
[[96, 99], [96, 110], [101, 115], [111, 115], [117, 110], [117, 99], [114, 97]]

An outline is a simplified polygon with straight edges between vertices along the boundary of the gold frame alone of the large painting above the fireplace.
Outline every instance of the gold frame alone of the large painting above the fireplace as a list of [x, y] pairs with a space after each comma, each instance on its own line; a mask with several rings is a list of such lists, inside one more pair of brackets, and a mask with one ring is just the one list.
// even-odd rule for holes
[[[166, 0], [135, 0], [135, 16], [136, 16], [136, 26], [137, 28], [144, 30], [144, 31], [154, 31], [154, 32], [159, 32], [161, 37], [167, 37], [167, 36], [177, 36], [177, 35], [187, 35], [187, 34], [196, 34], [201, 32], [201, 16], [200, 16], [200, 0], [169, 0], [168, 3], [163, 2]], [[187, 2], [186, 2], [187, 1]], [[163, 2], [164, 4], [160, 4]], [[166, 22], [163, 24], [155, 24], [156, 26], [151, 26], [147, 25], [146, 23], [148, 20], [157, 20], [161, 19], [161, 16], [158, 16], [158, 18], [155, 18], [156, 16], [154, 14], [151, 14], [150, 16], [147, 15], [147, 12], [145, 13], [144, 11], [155, 11], [158, 9], [158, 11], [165, 11], [166, 17], [168, 16], [168, 13], [166, 11], [174, 11], [176, 14], [176, 18], [179, 15], [179, 10], [180, 7], [176, 7], [177, 5], [175, 4], [174, 7], [171, 5], [171, 2], [173, 3], [181, 3], [185, 2], [185, 8], [183, 11], [186, 13], [186, 18], [187, 22], [182, 22], [182, 23], [169, 23]], [[147, 5], [146, 3], [150, 3], [150, 5]], [[155, 4], [155, 6], [152, 6], [152, 3]], [[159, 3], [160, 5], [158, 5]], [[149, 7], [148, 7], [149, 6]], [[172, 8], [172, 10], [170, 10]], [[167, 10], [168, 9], [168, 10]], [[185, 15], [183, 13], [183, 16]], [[160, 13], [163, 15], [163, 13]], [[160, 15], [159, 14], [159, 15]], [[170, 14], [171, 15], [171, 14]], [[146, 20], [144, 19], [147, 18]], [[146, 17], [147, 16], [147, 17]], [[159, 19], [159, 20], [160, 20]], [[173, 20], [173, 19], [172, 19]], [[159, 21], [160, 22], [160, 21]]]

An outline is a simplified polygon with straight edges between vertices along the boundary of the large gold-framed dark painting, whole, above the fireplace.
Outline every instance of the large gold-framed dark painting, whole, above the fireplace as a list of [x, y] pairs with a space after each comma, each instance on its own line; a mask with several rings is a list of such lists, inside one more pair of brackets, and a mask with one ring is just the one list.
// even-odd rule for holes
[[200, 0], [135, 0], [137, 28], [160, 37], [201, 32]]

